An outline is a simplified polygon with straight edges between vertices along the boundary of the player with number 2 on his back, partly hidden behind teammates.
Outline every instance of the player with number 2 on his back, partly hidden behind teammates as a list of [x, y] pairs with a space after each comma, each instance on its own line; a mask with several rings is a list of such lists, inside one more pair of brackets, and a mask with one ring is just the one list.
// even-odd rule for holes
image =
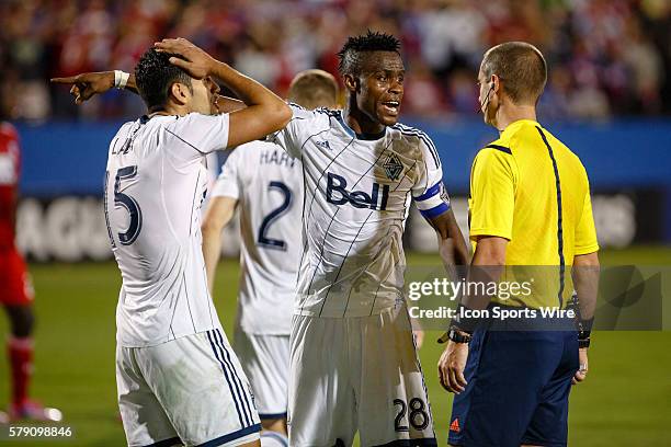
[[[338, 105], [338, 82], [322, 70], [298, 73], [288, 100], [306, 108]], [[289, 332], [303, 254], [300, 162], [277, 145], [252, 141], [234, 150], [209, 194], [203, 254], [213, 294], [221, 230], [240, 205], [240, 282], [234, 348], [249, 378], [261, 445], [287, 445]]]

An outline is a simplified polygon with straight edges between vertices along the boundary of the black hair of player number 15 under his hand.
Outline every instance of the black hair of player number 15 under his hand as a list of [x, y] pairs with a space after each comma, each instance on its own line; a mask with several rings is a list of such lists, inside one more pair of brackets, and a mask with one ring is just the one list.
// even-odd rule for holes
[[168, 53], [159, 53], [149, 48], [135, 66], [135, 82], [140, 96], [149, 112], [166, 106], [173, 83], [186, 84], [191, 90], [191, 77], [181, 68], [170, 64], [171, 57], [180, 57]]

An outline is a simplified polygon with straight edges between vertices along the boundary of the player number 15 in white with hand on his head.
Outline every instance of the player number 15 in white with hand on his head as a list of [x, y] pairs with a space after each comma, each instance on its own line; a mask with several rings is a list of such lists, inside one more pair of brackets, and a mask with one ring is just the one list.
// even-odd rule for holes
[[[247, 107], [211, 116], [218, 92], [211, 76]], [[258, 446], [253, 396], [207, 291], [203, 160], [282, 128], [289, 110], [184, 39], [145, 53], [135, 82], [148, 114], [111, 141], [104, 193], [123, 278], [116, 376], [128, 445]]]

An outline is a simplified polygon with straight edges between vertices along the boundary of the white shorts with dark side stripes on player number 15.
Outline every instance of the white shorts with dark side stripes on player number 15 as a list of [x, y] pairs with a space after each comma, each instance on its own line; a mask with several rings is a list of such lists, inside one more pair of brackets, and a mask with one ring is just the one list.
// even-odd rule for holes
[[117, 346], [116, 387], [128, 446], [237, 446], [259, 438], [249, 381], [220, 330]]

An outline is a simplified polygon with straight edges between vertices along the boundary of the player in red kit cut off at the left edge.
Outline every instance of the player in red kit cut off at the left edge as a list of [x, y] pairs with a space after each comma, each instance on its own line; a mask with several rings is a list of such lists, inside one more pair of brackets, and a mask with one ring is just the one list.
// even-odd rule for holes
[[9, 413], [0, 412], [0, 423], [22, 419], [60, 421], [60, 411], [44, 408], [29, 399], [35, 316], [33, 286], [23, 257], [14, 245], [20, 176], [19, 134], [11, 124], [0, 121], [0, 302], [11, 325], [7, 351], [12, 380]]

